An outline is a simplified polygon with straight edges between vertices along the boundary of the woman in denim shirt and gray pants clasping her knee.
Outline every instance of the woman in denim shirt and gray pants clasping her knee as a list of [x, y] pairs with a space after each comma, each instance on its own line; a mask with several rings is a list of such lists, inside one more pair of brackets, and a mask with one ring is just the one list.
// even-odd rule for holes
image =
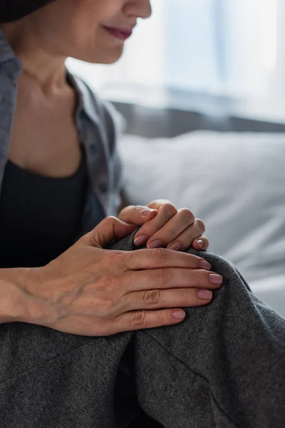
[[[150, 16], [149, 0], [26, 3], [2, 0], [0, 6], [2, 426], [101, 428], [133, 422], [150, 427], [158, 426], [156, 420], [165, 427], [187, 427], [191, 420], [193, 427], [261, 427], [260, 413], [267, 418], [271, 410], [274, 426], [281, 426], [279, 402], [259, 412], [252, 399], [250, 416], [244, 411], [237, 380], [243, 377], [232, 355], [224, 367], [232, 367], [228, 374], [237, 386], [219, 370], [235, 349], [223, 342], [219, 355], [221, 338], [233, 331], [232, 320], [246, 303], [260, 302], [233, 267], [212, 255], [189, 253], [190, 245], [207, 249], [201, 220], [163, 200], [110, 217], [117, 213], [120, 191], [115, 112], [66, 71], [65, 60], [117, 61], [137, 20]], [[147, 249], [135, 251], [135, 245]], [[224, 282], [231, 286], [220, 288], [202, 312], [199, 306], [211, 302], [212, 290], [222, 285], [222, 276], [206, 259], [214, 270], [224, 270]], [[181, 326], [185, 310], [180, 307], [197, 307], [186, 309], [190, 318]], [[257, 337], [271, 344], [271, 331], [248, 312], [247, 323], [257, 322]], [[278, 315], [269, 312], [283, 328]], [[142, 330], [174, 324], [168, 330]], [[237, 343], [246, 326], [237, 329]], [[142, 330], [135, 342], [134, 330]], [[243, 350], [241, 344], [238, 349]], [[191, 367], [189, 350], [197, 355]], [[205, 355], [212, 356], [210, 361], [203, 360]], [[242, 360], [243, 367], [251, 357]], [[268, 352], [262, 352], [259, 362], [264, 361], [270, 362]], [[278, 367], [283, 362], [280, 357]], [[249, 377], [252, 382], [261, 378], [254, 370]], [[276, 372], [271, 377], [276, 379]], [[230, 394], [222, 394], [221, 382]], [[174, 391], [182, 387], [176, 398], [166, 393], [170, 385]], [[282, 397], [283, 389], [277, 392]], [[227, 398], [232, 394], [237, 409]]]

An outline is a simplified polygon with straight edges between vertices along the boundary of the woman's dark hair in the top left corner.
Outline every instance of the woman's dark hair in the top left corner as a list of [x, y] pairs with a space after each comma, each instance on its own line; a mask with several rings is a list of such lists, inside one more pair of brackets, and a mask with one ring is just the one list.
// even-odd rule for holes
[[17, 21], [54, 0], [0, 0], [0, 24]]

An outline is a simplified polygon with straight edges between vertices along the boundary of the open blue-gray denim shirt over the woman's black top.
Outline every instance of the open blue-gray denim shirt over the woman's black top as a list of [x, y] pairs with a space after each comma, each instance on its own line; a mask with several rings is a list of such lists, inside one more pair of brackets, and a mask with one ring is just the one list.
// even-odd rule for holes
[[[16, 108], [16, 78], [21, 76], [22, 72], [21, 61], [16, 58], [0, 30], [0, 192]], [[120, 132], [120, 115], [110, 103], [95, 96], [81, 78], [71, 75], [68, 71], [67, 73], [78, 91], [76, 127], [86, 151], [89, 176], [79, 238], [106, 216], [118, 213], [121, 164], [116, 141]]]

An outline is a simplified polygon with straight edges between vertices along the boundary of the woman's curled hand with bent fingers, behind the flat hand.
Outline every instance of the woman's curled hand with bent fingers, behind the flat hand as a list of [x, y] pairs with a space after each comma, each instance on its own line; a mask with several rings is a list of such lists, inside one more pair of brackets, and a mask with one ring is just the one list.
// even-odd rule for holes
[[209, 241], [203, 236], [202, 220], [187, 208], [177, 210], [169, 200], [157, 199], [146, 207], [129, 205], [118, 218], [125, 223], [142, 226], [135, 235], [135, 245], [147, 248], [166, 247], [183, 251], [191, 245], [195, 250], [207, 250]]

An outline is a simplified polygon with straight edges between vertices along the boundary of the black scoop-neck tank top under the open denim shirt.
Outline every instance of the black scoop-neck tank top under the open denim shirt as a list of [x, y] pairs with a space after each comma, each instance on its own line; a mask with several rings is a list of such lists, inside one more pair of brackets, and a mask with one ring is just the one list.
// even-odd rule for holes
[[79, 231], [86, 162], [67, 178], [50, 178], [8, 161], [0, 196], [0, 267], [37, 267], [67, 250]]

